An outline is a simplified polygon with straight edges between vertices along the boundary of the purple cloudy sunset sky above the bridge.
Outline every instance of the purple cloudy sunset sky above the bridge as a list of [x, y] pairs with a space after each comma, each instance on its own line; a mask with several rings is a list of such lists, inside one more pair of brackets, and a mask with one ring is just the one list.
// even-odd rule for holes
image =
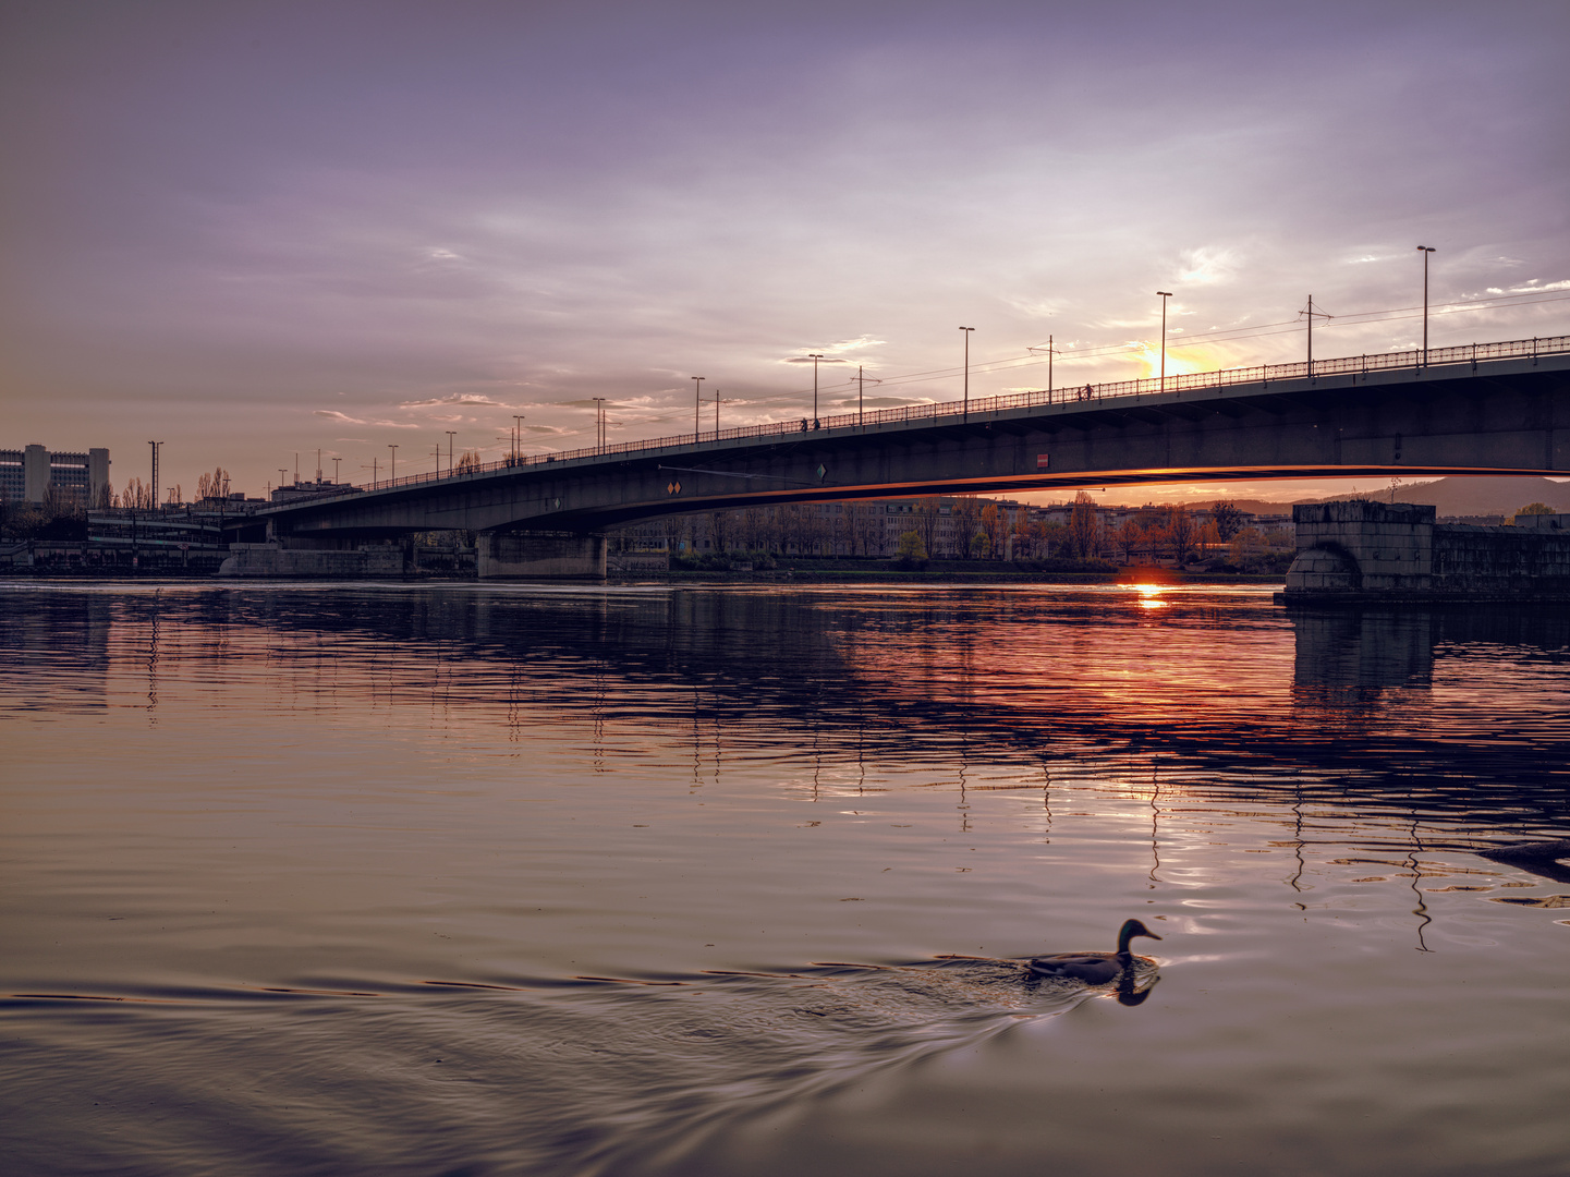
[[[159, 3], [0, 17], [0, 446], [190, 495], [1145, 374], [1421, 302], [1570, 332], [1570, 8]], [[1543, 291], [1532, 294], [1532, 291]], [[1411, 347], [1331, 321], [1316, 355]], [[1302, 327], [1168, 371], [1302, 358]], [[1083, 354], [1074, 358], [1075, 352]], [[1013, 360], [1005, 368], [992, 361]], [[942, 372], [937, 379], [900, 379]], [[829, 412], [829, 409], [826, 409]], [[713, 420], [710, 407], [705, 421]], [[331, 475], [331, 462], [323, 462]], [[1292, 487], [1294, 490], [1297, 487]], [[1327, 487], [1338, 489], [1338, 487]], [[1229, 493], [1284, 492], [1284, 486]]]

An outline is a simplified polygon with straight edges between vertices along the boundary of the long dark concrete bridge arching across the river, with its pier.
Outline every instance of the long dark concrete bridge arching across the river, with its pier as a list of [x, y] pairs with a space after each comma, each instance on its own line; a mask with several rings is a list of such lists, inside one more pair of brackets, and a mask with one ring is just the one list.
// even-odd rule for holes
[[1570, 336], [686, 434], [378, 482], [254, 519], [286, 548], [479, 531], [482, 577], [593, 575], [604, 567], [604, 528], [663, 514], [939, 492], [1441, 475], [1570, 475]]

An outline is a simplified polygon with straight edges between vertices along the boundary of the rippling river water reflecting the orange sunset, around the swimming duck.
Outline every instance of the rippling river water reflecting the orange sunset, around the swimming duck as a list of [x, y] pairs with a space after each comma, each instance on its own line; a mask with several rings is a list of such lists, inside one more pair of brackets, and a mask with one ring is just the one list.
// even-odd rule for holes
[[[1570, 1171], [1570, 618], [0, 586], [8, 1174]], [[1162, 940], [1137, 984], [1019, 959]], [[1154, 971], [1152, 971], [1154, 970]]]

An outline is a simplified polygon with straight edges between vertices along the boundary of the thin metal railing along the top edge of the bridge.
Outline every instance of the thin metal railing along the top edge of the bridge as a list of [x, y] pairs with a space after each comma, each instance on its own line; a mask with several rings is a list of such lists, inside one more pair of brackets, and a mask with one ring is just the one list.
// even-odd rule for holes
[[1071, 404], [1086, 401], [1110, 401], [1123, 396], [1146, 396], [1151, 393], [1185, 393], [1207, 388], [1226, 388], [1240, 383], [1270, 383], [1273, 380], [1303, 380], [1317, 376], [1349, 376], [1364, 372], [1388, 372], [1405, 368], [1451, 368], [1455, 365], [1476, 366], [1479, 360], [1526, 358], [1539, 355], [1564, 355], [1570, 352], [1570, 335], [1553, 335], [1537, 339], [1507, 339], [1502, 343], [1474, 343], [1459, 347], [1430, 347], [1427, 363], [1421, 349], [1410, 352], [1382, 352], [1377, 355], [1344, 355], [1330, 360], [1314, 360], [1313, 369], [1308, 361], [1269, 363], [1253, 368], [1223, 368], [1214, 372], [1185, 372], [1182, 376], [1148, 377], [1143, 380], [1112, 380], [1104, 383], [1086, 383], [1069, 388], [1049, 388], [1028, 393], [1008, 393], [1003, 396], [973, 396], [970, 402], [944, 401], [933, 404], [912, 404], [900, 409], [878, 409], [870, 413], [837, 413], [818, 418], [816, 423], [807, 418], [790, 421], [765, 421], [763, 424], [736, 426], [732, 429], [706, 431], [699, 434], [674, 434], [670, 437], [650, 437], [639, 442], [612, 442], [603, 446], [584, 449], [562, 449], [553, 454], [518, 454], [504, 457], [499, 462], [482, 462], [457, 470], [443, 470], [425, 475], [405, 475], [403, 478], [385, 478], [380, 482], [345, 490], [341, 495], [316, 495], [309, 503], [323, 503], [347, 495], [358, 495], [366, 490], [388, 490], [392, 487], [419, 486], [438, 482], [449, 478], [465, 478], [468, 475], [485, 475], [498, 470], [518, 467], [548, 465], [553, 462], [575, 462], [592, 457], [617, 457], [636, 454], [648, 449], [669, 449], [674, 446], [700, 445], [703, 442], [732, 442], [755, 437], [788, 437], [791, 434], [815, 432], [818, 429], [868, 429], [879, 424], [903, 424], [906, 421], [925, 421], [939, 416], [966, 416], [967, 413], [992, 413], [1003, 409], [1027, 409], [1033, 405]]

